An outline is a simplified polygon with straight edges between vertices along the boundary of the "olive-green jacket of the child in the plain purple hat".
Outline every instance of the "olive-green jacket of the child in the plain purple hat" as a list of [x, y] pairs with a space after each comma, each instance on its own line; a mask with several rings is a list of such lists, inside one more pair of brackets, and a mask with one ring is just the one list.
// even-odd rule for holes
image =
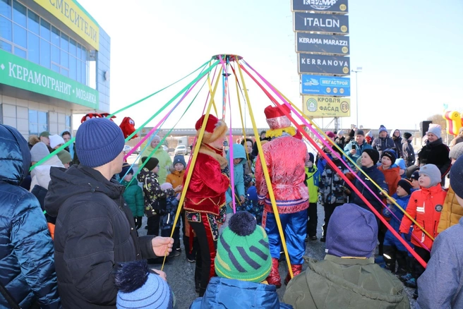
[[283, 297], [295, 309], [410, 308], [402, 282], [375, 264], [373, 257], [325, 255], [325, 260], [306, 262], [307, 269], [289, 281]]

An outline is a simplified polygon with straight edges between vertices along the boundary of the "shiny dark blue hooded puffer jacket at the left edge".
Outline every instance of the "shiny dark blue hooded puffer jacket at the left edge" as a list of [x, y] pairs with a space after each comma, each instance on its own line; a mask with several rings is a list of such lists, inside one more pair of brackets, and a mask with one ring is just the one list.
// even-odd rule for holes
[[[61, 308], [47, 222], [37, 198], [19, 186], [29, 166], [26, 140], [0, 125], [0, 283], [20, 308]], [[0, 308], [10, 308], [1, 294]]]

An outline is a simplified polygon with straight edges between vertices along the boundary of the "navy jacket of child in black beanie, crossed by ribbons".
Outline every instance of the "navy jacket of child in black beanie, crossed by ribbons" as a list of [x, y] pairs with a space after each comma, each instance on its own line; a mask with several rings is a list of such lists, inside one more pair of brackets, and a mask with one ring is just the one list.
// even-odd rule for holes
[[[365, 171], [368, 178], [365, 175], [363, 175], [363, 173], [361, 173], [360, 171], [357, 172], [357, 175], [361, 178], [361, 180], [364, 183], [366, 183], [368, 188], [371, 188], [374, 195], [371, 194], [370, 190], [368, 190], [368, 188], [365, 188], [365, 186], [363, 186], [363, 184], [357, 178], [355, 179], [354, 186], [360, 191], [360, 193], [366, 198], [366, 200], [368, 200], [368, 202], [370, 202], [371, 205], [375, 207], [375, 210], [378, 210], [378, 212], [381, 212], [382, 204], [378, 200], [378, 198], [376, 198], [376, 197], [379, 197], [381, 199], [380, 190], [376, 188], [376, 186], [372, 183], [372, 181], [378, 184], [380, 188], [388, 192], [389, 188], [387, 187], [384, 174], [376, 167], [376, 165], [373, 165], [371, 167], [362, 166], [361, 169]], [[354, 204], [359, 205], [360, 207], [365, 208], [366, 210], [370, 210], [370, 207], [368, 207], [366, 203], [363, 202], [363, 200], [361, 200], [359, 195], [356, 195], [355, 193], [353, 193], [353, 195], [354, 195]]]

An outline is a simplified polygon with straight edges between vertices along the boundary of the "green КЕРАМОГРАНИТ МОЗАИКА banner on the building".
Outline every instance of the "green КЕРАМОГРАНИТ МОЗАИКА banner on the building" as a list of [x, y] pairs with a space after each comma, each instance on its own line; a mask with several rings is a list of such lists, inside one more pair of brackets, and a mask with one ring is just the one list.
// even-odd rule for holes
[[0, 84], [98, 109], [97, 90], [2, 50]]

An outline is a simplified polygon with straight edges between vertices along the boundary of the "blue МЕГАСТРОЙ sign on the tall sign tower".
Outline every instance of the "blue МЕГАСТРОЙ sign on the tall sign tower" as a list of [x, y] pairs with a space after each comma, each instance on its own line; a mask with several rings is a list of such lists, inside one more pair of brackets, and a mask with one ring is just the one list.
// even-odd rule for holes
[[302, 74], [301, 94], [349, 97], [351, 95], [351, 80], [336, 76]]

